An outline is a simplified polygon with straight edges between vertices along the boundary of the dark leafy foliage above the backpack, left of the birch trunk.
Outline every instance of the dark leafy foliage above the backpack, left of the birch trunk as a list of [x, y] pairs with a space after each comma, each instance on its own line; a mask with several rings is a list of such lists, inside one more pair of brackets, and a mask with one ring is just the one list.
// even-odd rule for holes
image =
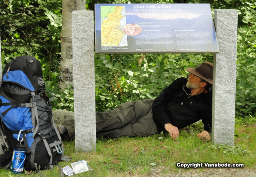
[[[2, 54], [9, 58], [11, 53], [36, 56], [45, 68], [45, 78], [56, 78], [61, 49], [61, 0], [3, 1], [0, 6]], [[54, 76], [49, 76], [51, 72], [55, 72]], [[55, 82], [58, 80], [57, 77]]]

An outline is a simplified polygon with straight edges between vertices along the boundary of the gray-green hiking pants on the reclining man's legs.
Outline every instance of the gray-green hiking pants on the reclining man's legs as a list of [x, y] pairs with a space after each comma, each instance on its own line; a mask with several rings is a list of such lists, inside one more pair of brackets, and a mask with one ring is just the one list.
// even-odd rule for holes
[[[96, 112], [96, 136], [145, 136], [158, 133], [153, 120], [153, 99], [129, 101], [115, 109]], [[63, 124], [70, 138], [74, 136], [74, 120]]]

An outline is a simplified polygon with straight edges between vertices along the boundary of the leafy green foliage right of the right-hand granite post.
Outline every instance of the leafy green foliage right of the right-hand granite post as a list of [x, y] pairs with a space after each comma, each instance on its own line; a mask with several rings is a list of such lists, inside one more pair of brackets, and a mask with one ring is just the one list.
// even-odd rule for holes
[[237, 35], [236, 115], [250, 118], [256, 115], [256, 10], [245, 10]]

